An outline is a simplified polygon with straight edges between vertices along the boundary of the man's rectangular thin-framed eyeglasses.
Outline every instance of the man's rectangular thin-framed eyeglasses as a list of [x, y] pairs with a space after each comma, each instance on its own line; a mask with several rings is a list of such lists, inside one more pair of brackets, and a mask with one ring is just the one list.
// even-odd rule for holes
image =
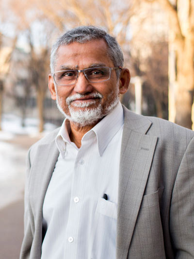
[[108, 81], [113, 69], [122, 69], [121, 67], [97, 67], [82, 70], [60, 70], [52, 74], [54, 82], [58, 86], [70, 86], [76, 84], [79, 73], [83, 72], [86, 79], [91, 83], [101, 83]]

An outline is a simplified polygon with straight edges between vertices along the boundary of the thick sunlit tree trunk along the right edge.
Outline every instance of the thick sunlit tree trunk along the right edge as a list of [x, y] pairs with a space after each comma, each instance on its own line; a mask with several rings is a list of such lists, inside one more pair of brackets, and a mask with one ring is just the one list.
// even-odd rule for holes
[[173, 113], [172, 120], [192, 128], [192, 120], [194, 122], [194, 1], [146, 1], [160, 3], [169, 16], [169, 48], [173, 46], [176, 65], [176, 85], [173, 86], [174, 91], [169, 91], [170, 118]]

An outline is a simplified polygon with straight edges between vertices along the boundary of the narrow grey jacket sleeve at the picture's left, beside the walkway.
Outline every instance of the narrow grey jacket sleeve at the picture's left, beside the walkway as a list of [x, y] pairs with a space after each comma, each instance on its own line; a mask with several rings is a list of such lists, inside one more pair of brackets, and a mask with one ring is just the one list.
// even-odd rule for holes
[[29, 259], [30, 258], [30, 251], [33, 241], [33, 234], [32, 234], [32, 225], [33, 225], [33, 217], [32, 217], [32, 210], [29, 202], [29, 178], [30, 178], [30, 150], [27, 156], [27, 170], [26, 170], [26, 183], [25, 183], [25, 195], [24, 195], [24, 238], [21, 246], [20, 251], [20, 259]]

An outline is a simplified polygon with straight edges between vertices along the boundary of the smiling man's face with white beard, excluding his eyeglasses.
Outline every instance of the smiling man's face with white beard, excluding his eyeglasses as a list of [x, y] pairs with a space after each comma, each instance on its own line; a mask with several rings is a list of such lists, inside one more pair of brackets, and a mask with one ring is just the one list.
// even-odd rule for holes
[[[114, 67], [107, 54], [107, 45], [103, 39], [86, 43], [71, 43], [61, 46], [57, 52], [55, 71], [64, 69], [87, 69], [90, 67]], [[49, 77], [49, 85], [53, 78]], [[75, 85], [55, 86], [52, 99], [57, 100], [59, 109], [70, 121], [81, 126], [97, 123], [107, 115], [119, 101], [119, 81], [115, 70], [108, 81], [89, 82], [84, 74], [79, 74]], [[50, 86], [49, 86], [50, 89]]]

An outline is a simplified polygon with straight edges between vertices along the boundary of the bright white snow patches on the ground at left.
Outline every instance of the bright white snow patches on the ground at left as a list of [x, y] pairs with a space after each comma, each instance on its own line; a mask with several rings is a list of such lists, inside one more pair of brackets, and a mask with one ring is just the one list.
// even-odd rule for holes
[[[18, 135], [38, 136], [35, 119], [26, 119], [26, 126], [21, 127], [20, 118], [7, 114], [2, 118], [0, 131], [0, 208], [23, 197], [25, 183], [25, 160], [27, 148], [11, 143]], [[56, 128], [47, 123], [44, 134]], [[6, 142], [9, 141], [9, 142]], [[13, 141], [14, 142], [14, 141]]]

